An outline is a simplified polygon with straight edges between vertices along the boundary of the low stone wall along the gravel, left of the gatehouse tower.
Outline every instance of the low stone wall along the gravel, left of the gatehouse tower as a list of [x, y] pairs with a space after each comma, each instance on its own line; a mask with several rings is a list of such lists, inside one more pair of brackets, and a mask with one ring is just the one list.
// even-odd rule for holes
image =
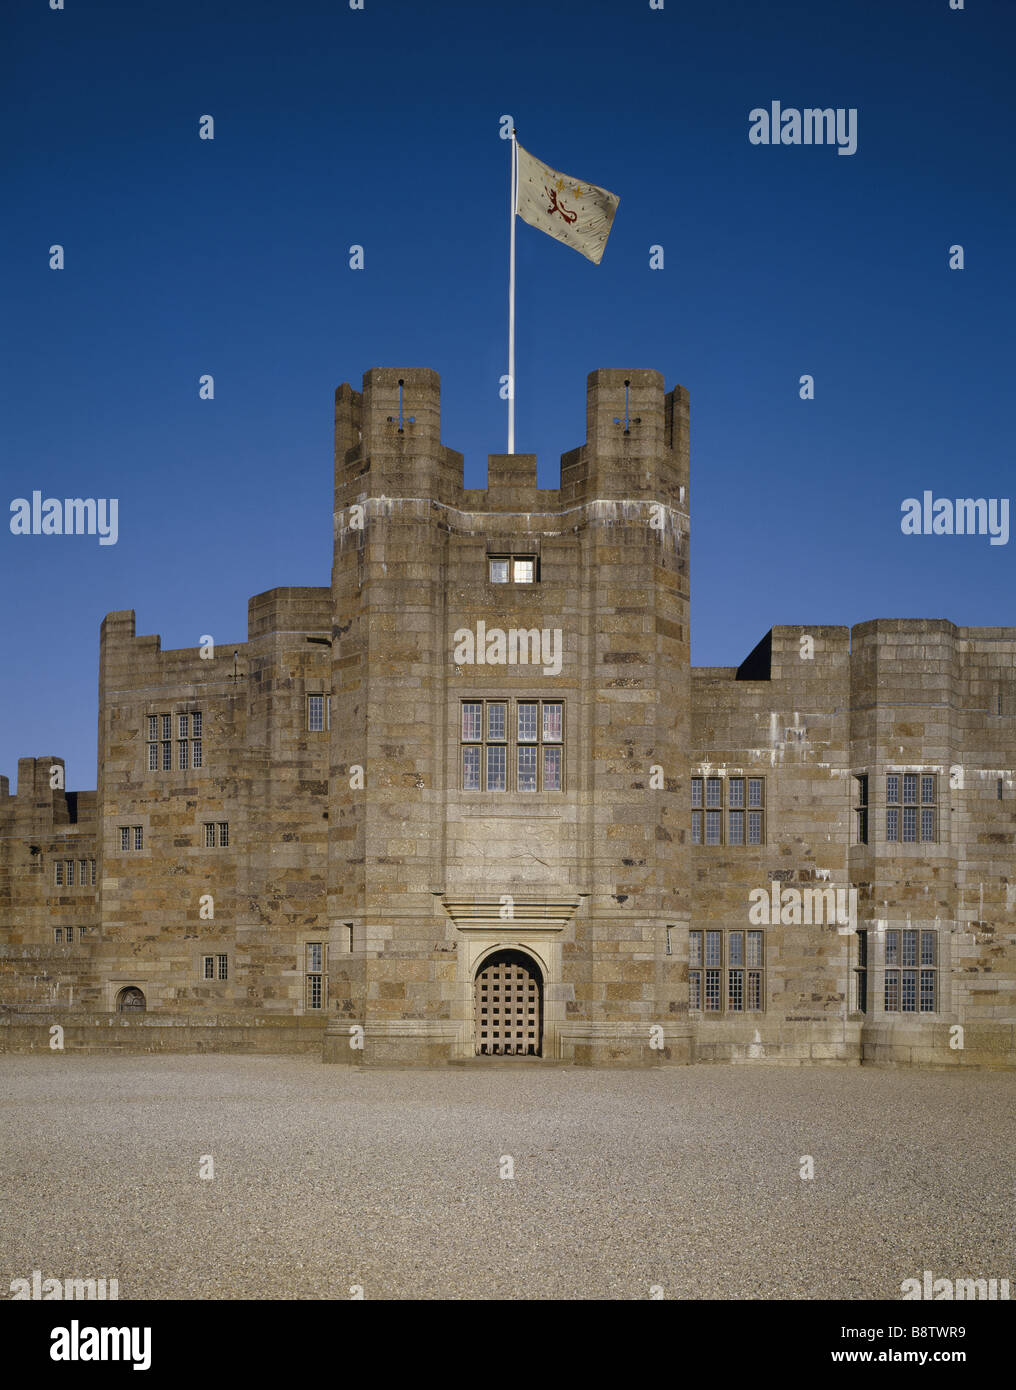
[[64, 1052], [307, 1052], [321, 1055], [325, 1020], [277, 1015], [122, 1013], [0, 1015], [0, 1052], [50, 1052], [58, 1024]]

